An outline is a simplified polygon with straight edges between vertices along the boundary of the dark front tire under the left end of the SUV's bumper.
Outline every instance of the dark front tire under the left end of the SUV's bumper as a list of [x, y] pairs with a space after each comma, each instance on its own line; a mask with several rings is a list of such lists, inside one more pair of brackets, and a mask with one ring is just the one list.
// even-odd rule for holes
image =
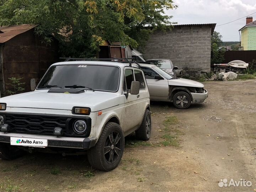
[[10, 143], [0, 143], [0, 159], [14, 160], [21, 157], [25, 151], [17, 146], [12, 146]]

